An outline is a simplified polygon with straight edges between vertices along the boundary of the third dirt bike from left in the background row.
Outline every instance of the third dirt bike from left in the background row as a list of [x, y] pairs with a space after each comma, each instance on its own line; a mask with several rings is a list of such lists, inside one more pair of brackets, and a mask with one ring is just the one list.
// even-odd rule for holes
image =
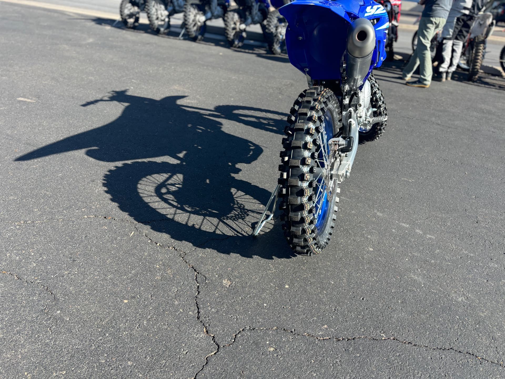
[[230, 0], [188, 1], [184, 6], [184, 26], [189, 38], [199, 41], [204, 38], [207, 20], [223, 18]]

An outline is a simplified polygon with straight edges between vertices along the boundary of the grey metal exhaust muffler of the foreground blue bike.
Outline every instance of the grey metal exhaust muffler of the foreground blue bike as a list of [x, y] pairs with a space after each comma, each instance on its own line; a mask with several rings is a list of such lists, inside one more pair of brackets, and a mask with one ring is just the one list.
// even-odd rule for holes
[[347, 30], [347, 84], [359, 87], [367, 76], [375, 48], [375, 29], [366, 18], [352, 21]]

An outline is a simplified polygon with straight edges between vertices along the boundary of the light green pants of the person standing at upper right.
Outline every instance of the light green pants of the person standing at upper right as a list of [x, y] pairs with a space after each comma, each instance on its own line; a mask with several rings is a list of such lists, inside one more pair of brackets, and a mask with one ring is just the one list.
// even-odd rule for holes
[[417, 47], [409, 63], [403, 69], [404, 78], [412, 76], [417, 66], [420, 66], [419, 81], [426, 85], [431, 83], [431, 76], [433, 75], [430, 52], [431, 39], [437, 30], [443, 28], [444, 24], [444, 18], [421, 17], [417, 31]]

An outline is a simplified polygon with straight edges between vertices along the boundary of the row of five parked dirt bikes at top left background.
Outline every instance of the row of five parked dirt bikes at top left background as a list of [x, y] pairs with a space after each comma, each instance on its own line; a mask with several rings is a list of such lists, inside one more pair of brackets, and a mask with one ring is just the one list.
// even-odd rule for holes
[[[277, 11], [289, 0], [235, 0], [238, 8], [230, 7], [230, 0], [122, 0], [121, 20], [128, 28], [138, 25], [140, 12], [147, 14], [150, 27], [159, 34], [170, 31], [170, 17], [184, 14], [184, 28], [189, 38], [197, 41], [204, 37], [207, 20], [222, 18], [225, 35], [232, 48], [245, 40], [245, 29], [260, 24], [268, 48], [281, 54], [286, 33], [286, 20]], [[275, 10], [271, 11], [271, 7]]]

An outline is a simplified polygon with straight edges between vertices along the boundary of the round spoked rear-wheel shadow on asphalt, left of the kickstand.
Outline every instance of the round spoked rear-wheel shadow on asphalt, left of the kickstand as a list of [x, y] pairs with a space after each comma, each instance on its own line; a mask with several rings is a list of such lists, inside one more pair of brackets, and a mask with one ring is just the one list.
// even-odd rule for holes
[[187, 241], [191, 235], [188, 242], [198, 244], [217, 235], [249, 235], [266, 191], [229, 173], [212, 179], [204, 172], [185, 164], [133, 162], [110, 170], [104, 186], [134, 220], [169, 223], [163, 232], [172, 239]]

